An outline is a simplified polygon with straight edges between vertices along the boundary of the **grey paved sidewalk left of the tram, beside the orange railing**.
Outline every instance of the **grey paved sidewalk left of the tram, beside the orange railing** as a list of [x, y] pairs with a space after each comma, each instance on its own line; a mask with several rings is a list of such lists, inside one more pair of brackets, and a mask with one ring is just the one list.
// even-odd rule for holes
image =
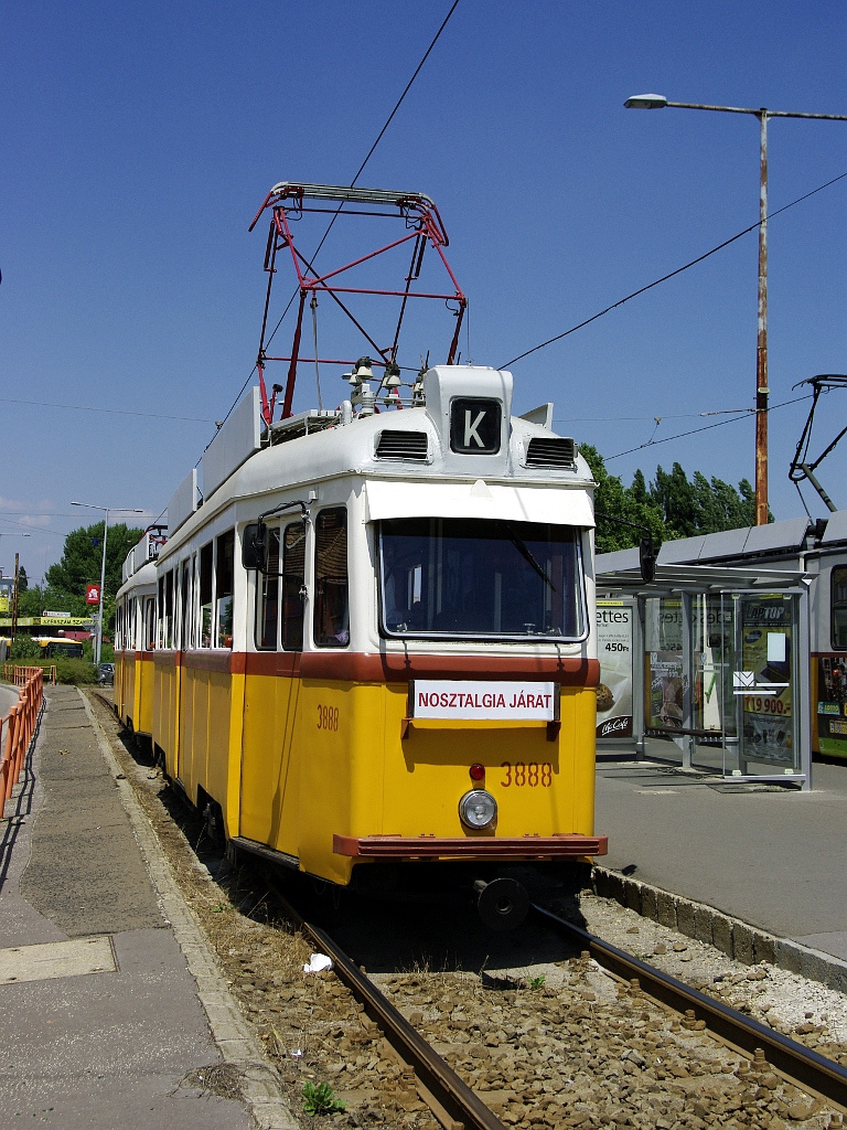
[[47, 699], [0, 823], [0, 1123], [290, 1130], [87, 702]]

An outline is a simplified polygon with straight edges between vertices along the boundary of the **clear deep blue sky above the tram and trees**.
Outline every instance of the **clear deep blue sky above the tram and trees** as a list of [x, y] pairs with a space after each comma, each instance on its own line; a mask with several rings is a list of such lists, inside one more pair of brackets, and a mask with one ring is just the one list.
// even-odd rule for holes
[[[37, 580], [67, 532], [97, 519], [72, 499], [164, 510], [253, 367], [265, 225], [247, 227], [265, 193], [350, 182], [448, 8], [5, 7], [7, 574], [17, 550]], [[757, 119], [627, 111], [627, 96], [847, 113], [846, 49], [839, 0], [460, 0], [359, 184], [434, 198], [470, 299], [464, 357], [501, 366], [758, 219]], [[847, 172], [847, 122], [774, 120], [768, 139], [771, 212]], [[847, 372], [846, 205], [847, 180], [771, 220], [775, 406], [798, 381]], [[611, 457], [751, 407], [756, 315], [753, 232], [517, 363], [516, 408], [553, 400], [557, 428], [626, 484], [674, 461], [752, 480], [750, 418]], [[444, 342], [442, 324], [434, 359]], [[802, 513], [786, 472], [806, 407], [771, 414], [778, 519]], [[832, 393], [821, 442], [845, 423], [847, 392]], [[847, 444], [820, 473], [847, 507]]]

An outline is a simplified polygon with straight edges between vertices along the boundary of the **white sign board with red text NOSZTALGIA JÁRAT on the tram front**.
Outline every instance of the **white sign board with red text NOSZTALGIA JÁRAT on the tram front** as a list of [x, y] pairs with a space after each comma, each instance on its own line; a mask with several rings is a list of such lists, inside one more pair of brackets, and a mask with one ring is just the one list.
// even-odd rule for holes
[[558, 714], [555, 683], [414, 679], [409, 689], [412, 718], [552, 722]]

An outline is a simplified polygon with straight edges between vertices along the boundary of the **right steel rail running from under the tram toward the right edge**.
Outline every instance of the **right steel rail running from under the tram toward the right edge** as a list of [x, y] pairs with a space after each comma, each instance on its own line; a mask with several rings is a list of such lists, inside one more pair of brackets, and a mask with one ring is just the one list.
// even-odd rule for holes
[[768, 1063], [793, 1083], [847, 1110], [847, 1068], [840, 1063], [743, 1016], [728, 1005], [558, 918], [543, 906], [533, 903], [531, 910], [557, 930], [576, 938], [604, 970], [625, 981], [637, 979], [644, 992], [675, 1011], [693, 1011], [696, 1019], [705, 1020], [709, 1032], [740, 1051], [752, 1055], [757, 1049], [762, 1049]]

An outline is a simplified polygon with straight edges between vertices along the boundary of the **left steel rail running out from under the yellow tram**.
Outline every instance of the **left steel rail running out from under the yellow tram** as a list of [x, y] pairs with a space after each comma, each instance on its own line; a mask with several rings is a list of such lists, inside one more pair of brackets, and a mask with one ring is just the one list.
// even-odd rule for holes
[[[332, 958], [333, 970], [359, 1000], [367, 1015], [382, 1029], [398, 1054], [413, 1069], [419, 1094], [433, 1113], [448, 1130], [506, 1130], [503, 1122], [486, 1106], [481, 1098], [456, 1075], [421, 1034], [412, 1027], [402, 1012], [391, 1003], [374, 982], [339, 949], [328, 933], [313, 925], [297, 912], [280, 892], [273, 878], [265, 873], [265, 881], [285, 913], [307, 933], [315, 947]], [[427, 1092], [429, 1094], [427, 1094]], [[435, 1106], [431, 1099], [435, 1098]], [[438, 1107], [442, 1107], [439, 1111]], [[445, 1118], [445, 1114], [447, 1115]]]

